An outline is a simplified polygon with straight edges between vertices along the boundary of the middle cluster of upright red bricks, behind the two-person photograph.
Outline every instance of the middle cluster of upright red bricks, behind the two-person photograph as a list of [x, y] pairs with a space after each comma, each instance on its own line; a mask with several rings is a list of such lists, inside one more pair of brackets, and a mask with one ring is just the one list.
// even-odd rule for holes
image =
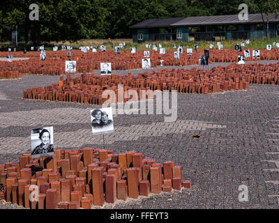
[[[118, 85], [123, 84], [123, 94], [128, 90], [137, 91], [138, 100], [141, 90], [173, 91], [179, 93], [216, 93], [232, 90], [248, 90], [249, 84], [279, 84], [279, 63], [271, 63], [266, 66], [258, 63], [239, 66], [231, 64], [227, 67], [218, 66], [211, 70], [164, 69], [153, 72], [140, 73], [138, 76], [111, 75], [96, 76], [82, 74], [80, 77], [66, 79], [60, 77], [59, 84], [27, 89], [24, 98], [36, 100], [56, 100], [66, 102], [80, 102], [85, 104], [103, 105], [105, 98], [102, 94], [105, 90], [112, 90], [118, 99]], [[153, 96], [151, 96], [153, 98]], [[124, 98], [126, 102], [130, 98]]]

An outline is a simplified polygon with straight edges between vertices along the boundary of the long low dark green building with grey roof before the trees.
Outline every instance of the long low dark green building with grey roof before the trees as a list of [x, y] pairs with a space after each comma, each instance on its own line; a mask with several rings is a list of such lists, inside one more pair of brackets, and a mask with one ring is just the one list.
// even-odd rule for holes
[[[269, 35], [266, 35], [267, 21]], [[199, 17], [174, 17], [144, 20], [130, 26], [133, 29], [133, 42], [157, 40], [215, 41], [277, 38], [279, 17], [270, 14], [249, 14], [248, 20], [240, 20], [239, 15], [213, 15]]]

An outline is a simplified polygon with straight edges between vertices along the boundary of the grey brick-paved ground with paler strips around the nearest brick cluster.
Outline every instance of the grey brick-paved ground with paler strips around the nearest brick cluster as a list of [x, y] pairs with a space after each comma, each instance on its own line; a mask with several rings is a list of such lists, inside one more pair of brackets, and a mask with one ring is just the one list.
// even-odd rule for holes
[[[22, 99], [24, 90], [58, 79], [0, 80], [0, 163], [29, 151], [30, 130], [40, 126], [54, 127], [56, 148], [103, 148], [103, 138], [91, 135], [89, 110], [97, 106]], [[179, 94], [174, 123], [165, 123], [164, 114], [114, 115], [107, 148], [134, 149], [158, 162], [174, 160], [193, 187], [103, 208], [278, 208], [278, 97], [278, 86], [252, 84], [250, 91]], [[239, 185], [248, 187], [249, 201], [239, 201]], [[0, 208], [18, 207], [0, 202]]]

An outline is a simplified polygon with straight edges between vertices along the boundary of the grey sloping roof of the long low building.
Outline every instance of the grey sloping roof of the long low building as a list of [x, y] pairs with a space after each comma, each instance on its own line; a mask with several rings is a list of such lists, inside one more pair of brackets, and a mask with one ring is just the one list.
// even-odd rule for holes
[[[264, 15], [264, 21], [266, 16]], [[269, 15], [269, 22], [279, 22], [279, 16]], [[131, 29], [152, 28], [152, 27], [172, 27], [172, 26], [205, 26], [223, 24], [252, 24], [263, 23], [262, 14], [249, 14], [248, 20], [239, 20], [239, 15], [211, 15], [197, 17], [176, 17], [163, 19], [149, 19], [130, 26]]]

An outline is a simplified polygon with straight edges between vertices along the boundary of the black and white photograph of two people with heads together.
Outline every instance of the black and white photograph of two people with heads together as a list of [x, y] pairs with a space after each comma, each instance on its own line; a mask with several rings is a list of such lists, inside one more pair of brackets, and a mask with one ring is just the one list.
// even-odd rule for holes
[[109, 134], [114, 132], [112, 107], [90, 110], [92, 134]]

